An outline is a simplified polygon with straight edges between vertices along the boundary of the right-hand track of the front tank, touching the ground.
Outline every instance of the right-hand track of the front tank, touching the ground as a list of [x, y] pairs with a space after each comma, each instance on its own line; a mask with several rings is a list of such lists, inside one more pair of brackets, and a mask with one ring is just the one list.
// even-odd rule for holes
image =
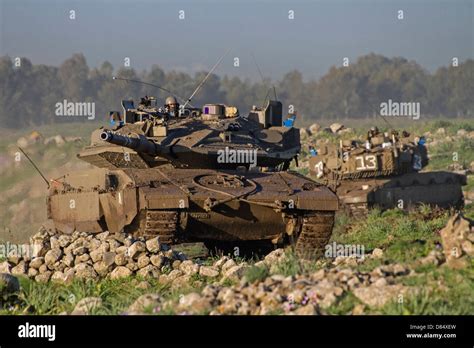
[[324, 254], [334, 226], [334, 212], [312, 212], [303, 216], [301, 232], [295, 243], [296, 254], [316, 259]]

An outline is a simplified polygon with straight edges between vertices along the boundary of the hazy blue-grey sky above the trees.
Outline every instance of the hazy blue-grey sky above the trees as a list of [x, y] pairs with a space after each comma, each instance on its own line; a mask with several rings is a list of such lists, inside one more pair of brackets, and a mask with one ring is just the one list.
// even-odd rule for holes
[[[59, 65], [82, 52], [89, 66], [130, 57], [137, 70], [210, 68], [217, 74], [319, 77], [375, 52], [429, 70], [474, 58], [474, 0], [0, 0], [0, 55]], [[69, 19], [69, 11], [76, 19]], [[185, 19], [178, 18], [184, 10]], [[294, 19], [289, 20], [289, 11]], [[398, 10], [404, 19], [397, 19]], [[234, 57], [240, 67], [233, 66]]]

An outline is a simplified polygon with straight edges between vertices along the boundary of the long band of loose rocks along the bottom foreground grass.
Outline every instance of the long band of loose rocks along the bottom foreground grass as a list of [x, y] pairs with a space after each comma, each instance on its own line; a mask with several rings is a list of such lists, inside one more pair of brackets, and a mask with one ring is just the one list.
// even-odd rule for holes
[[[270, 264], [269, 259], [263, 262]], [[125, 314], [157, 313], [163, 309], [177, 314], [324, 314], [349, 291], [363, 306], [379, 307], [415, 292], [414, 288], [396, 283], [397, 277], [408, 274], [407, 267], [395, 264], [367, 273], [331, 268], [288, 277], [274, 274], [252, 283], [243, 276], [237, 285], [215, 282], [206, 285], [200, 293], [182, 295], [178, 300], [165, 301], [158, 294], [146, 294]]]

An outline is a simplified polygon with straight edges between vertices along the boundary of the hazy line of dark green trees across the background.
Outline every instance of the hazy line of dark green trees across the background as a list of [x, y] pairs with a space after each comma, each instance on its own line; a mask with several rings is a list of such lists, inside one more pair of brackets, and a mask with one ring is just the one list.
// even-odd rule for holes
[[[152, 95], [163, 103], [168, 95], [151, 86], [113, 80], [114, 75], [162, 86], [184, 99], [206, 75], [204, 71], [194, 76], [165, 72], [158, 65], [140, 72], [114, 69], [109, 62], [89, 68], [82, 54], [74, 54], [59, 67], [34, 65], [27, 58], [20, 59], [20, 66], [15, 63], [11, 57], [0, 57], [0, 127], [64, 121], [55, 115], [56, 103], [64, 99], [94, 102], [96, 118], [105, 118], [109, 110], [121, 110], [122, 99]], [[423, 117], [473, 117], [474, 60], [430, 73], [414, 61], [368, 54], [347, 67], [333, 66], [320, 79], [309, 81], [297, 70], [281, 80], [261, 82], [212, 74], [193, 104], [224, 103], [245, 113], [274, 93], [285, 108], [293, 105], [299, 117], [309, 121], [374, 117], [380, 104], [389, 99], [420, 103]]]

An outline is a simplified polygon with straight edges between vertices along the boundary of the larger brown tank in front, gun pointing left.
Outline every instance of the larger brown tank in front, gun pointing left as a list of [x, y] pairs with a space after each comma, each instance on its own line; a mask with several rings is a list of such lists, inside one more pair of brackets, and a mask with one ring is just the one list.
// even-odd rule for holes
[[122, 101], [111, 128], [91, 135], [78, 158], [94, 166], [52, 181], [48, 214], [57, 229], [159, 236], [164, 243], [271, 241], [321, 254], [336, 195], [287, 171], [300, 151], [294, 116], [268, 101], [235, 107], [165, 107]]

